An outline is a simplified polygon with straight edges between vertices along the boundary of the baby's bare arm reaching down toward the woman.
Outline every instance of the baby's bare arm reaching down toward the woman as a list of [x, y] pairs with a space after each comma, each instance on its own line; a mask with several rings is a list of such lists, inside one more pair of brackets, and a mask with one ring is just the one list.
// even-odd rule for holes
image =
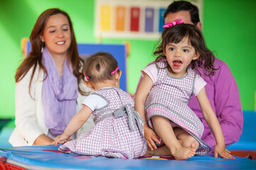
[[55, 138], [55, 145], [58, 145], [58, 143], [62, 140], [68, 140], [71, 135], [82, 127], [91, 114], [92, 110], [84, 105], [82, 109], [70, 120], [70, 123], [68, 123], [68, 126], [65, 128], [63, 134], [58, 135], [58, 137]]

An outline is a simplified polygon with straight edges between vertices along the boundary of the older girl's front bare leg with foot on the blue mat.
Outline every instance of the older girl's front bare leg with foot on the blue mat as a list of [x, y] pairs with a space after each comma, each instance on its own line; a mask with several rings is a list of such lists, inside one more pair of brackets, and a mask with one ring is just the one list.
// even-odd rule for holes
[[194, 144], [190, 147], [181, 146], [174, 134], [169, 119], [162, 116], [153, 116], [151, 121], [156, 134], [164, 141], [164, 144], [169, 148], [171, 155], [173, 155], [175, 159], [188, 159], [196, 154]]

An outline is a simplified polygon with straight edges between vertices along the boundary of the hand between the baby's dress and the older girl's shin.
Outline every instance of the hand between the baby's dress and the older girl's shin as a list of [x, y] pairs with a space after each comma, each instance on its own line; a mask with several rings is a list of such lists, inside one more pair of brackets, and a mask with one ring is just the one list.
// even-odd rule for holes
[[152, 130], [151, 128], [149, 128], [148, 125], [145, 125], [144, 126], [144, 136], [145, 136], [145, 139], [146, 139], [146, 143], [148, 145], [148, 147], [151, 149], [151, 150], [154, 150], [156, 149], [156, 144], [155, 142], [157, 143], [161, 143], [159, 141], [159, 137], [156, 135], [156, 133], [154, 132], [154, 130]]

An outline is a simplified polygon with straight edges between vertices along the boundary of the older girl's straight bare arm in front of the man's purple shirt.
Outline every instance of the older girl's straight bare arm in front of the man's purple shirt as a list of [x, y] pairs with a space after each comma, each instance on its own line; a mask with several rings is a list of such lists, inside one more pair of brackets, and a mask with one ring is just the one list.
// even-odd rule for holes
[[225, 149], [225, 140], [224, 140], [223, 132], [221, 130], [220, 123], [218, 122], [218, 119], [213, 111], [213, 108], [210, 106], [210, 101], [206, 96], [205, 87], [203, 87], [203, 89], [199, 92], [196, 98], [198, 99], [198, 102], [200, 104], [201, 111], [203, 113], [203, 118], [205, 118], [206, 123], [208, 123], [210, 130], [212, 130], [216, 140], [214, 157], [218, 157], [218, 154], [220, 154], [220, 157], [235, 159], [230, 154], [230, 152], [227, 149]]

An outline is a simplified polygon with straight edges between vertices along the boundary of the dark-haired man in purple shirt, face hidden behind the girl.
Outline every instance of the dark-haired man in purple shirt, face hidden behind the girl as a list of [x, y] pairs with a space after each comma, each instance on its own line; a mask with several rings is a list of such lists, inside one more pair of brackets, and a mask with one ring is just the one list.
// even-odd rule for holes
[[[184, 23], [193, 24], [200, 30], [202, 28], [197, 6], [188, 1], [174, 1], [168, 6], [164, 13], [164, 22], [171, 22], [176, 18], [183, 18]], [[215, 58], [214, 66], [219, 69], [212, 77], [206, 77], [201, 70], [200, 72], [202, 73], [201, 77], [207, 83], [206, 94], [223, 130], [225, 147], [228, 147], [228, 145], [238, 142], [242, 135], [243, 116], [240, 94], [228, 65]], [[140, 81], [142, 81], [142, 77], [139, 83]], [[215, 138], [203, 118], [196, 96], [191, 96], [188, 106], [198, 115], [198, 118], [203, 120], [205, 130], [201, 139], [210, 146], [211, 152], [213, 152], [216, 145]]]

